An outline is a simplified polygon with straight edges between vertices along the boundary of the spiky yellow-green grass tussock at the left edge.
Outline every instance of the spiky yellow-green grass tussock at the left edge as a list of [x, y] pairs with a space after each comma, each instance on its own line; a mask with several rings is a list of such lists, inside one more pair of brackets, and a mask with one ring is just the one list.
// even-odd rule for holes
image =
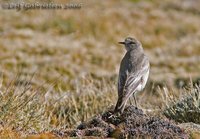
[[45, 105], [38, 103], [39, 90], [28, 84], [17, 88], [14, 81], [8, 87], [1, 87], [0, 119], [3, 126], [28, 132], [45, 129]]

